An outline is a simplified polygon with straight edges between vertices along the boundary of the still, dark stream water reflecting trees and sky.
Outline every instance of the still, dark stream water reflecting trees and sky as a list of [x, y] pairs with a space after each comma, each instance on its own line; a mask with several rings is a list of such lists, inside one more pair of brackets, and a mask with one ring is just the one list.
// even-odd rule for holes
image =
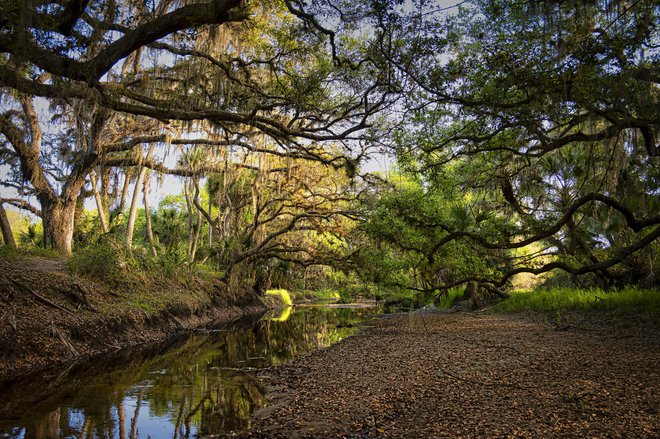
[[295, 308], [0, 384], [1, 438], [197, 438], [250, 425], [256, 371], [327, 347], [375, 308]]

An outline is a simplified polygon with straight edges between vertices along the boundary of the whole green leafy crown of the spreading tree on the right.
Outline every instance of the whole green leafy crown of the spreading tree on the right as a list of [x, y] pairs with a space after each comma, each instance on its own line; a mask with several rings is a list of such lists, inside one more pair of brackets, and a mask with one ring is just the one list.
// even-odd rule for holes
[[[657, 221], [637, 230], [629, 220], [655, 218], [660, 205], [648, 134], [657, 90], [640, 77], [657, 66], [658, 9], [583, 6], [464, 2], [455, 15], [429, 14], [428, 27], [398, 12], [390, 55], [415, 86], [392, 138], [399, 173], [365, 206], [366, 279], [427, 291], [467, 279], [506, 287], [514, 269], [558, 262], [577, 271], [626, 255], [555, 280], [657, 282], [657, 240], [632, 255], [626, 247], [657, 233]], [[640, 119], [645, 127], [620, 123]], [[572, 206], [592, 194], [623, 208]], [[520, 241], [534, 245], [512, 248]]]

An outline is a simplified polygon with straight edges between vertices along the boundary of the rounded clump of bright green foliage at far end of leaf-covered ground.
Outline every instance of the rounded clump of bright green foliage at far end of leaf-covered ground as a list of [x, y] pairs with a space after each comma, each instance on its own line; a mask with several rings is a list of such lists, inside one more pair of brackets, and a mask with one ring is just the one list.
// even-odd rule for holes
[[368, 238], [358, 255], [360, 273], [381, 285], [431, 291], [474, 273], [500, 272], [501, 251], [480, 249], [460, 233], [488, 236], [508, 220], [488, 213], [487, 194], [459, 193], [452, 184], [424, 184], [419, 175], [397, 174], [396, 186], [367, 207], [361, 231]]

